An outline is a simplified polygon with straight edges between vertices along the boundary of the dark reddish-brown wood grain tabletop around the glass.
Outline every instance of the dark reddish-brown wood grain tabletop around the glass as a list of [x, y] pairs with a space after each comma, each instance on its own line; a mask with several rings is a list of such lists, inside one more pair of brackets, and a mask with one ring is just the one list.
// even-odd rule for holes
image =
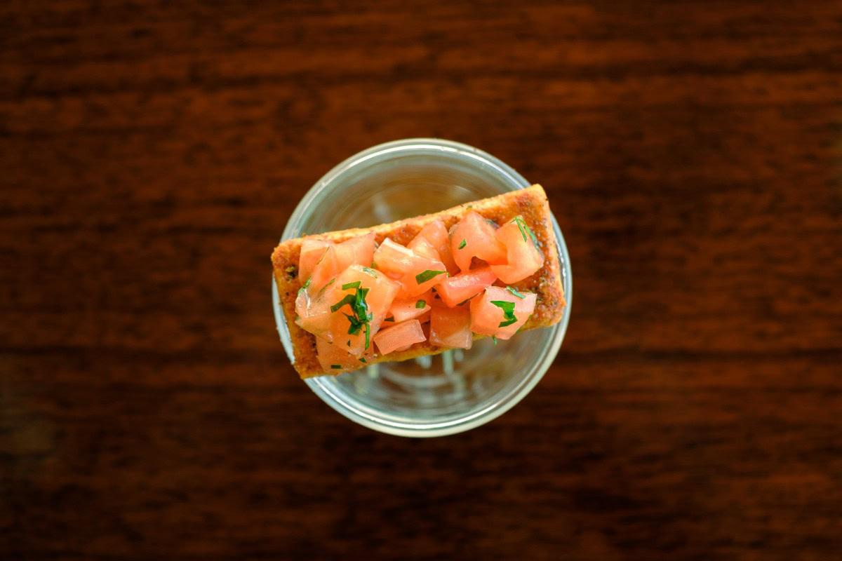
[[[573, 318], [475, 431], [355, 426], [269, 252], [386, 140], [548, 190]], [[842, 4], [0, 3], [3, 558], [839, 559]]]

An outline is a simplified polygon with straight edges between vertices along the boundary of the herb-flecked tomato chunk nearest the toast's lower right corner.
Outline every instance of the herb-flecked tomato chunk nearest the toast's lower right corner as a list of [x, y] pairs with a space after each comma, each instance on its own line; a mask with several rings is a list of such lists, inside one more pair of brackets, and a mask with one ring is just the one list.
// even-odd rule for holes
[[[498, 339], [509, 339], [526, 323], [532, 312], [535, 311], [536, 294], [531, 292], [519, 293], [520, 298], [498, 286], [490, 286], [485, 289], [485, 294], [471, 300], [471, 331], [482, 335], [497, 336]], [[498, 304], [493, 304], [498, 302]], [[505, 318], [505, 308], [514, 304], [512, 310], [516, 320], [509, 324], [500, 326], [501, 323], [508, 323]]]

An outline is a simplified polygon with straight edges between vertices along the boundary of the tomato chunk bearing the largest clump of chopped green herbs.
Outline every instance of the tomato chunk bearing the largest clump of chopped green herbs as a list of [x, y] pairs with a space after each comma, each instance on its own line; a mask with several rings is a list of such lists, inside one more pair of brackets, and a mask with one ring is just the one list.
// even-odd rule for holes
[[[356, 283], [360, 283], [359, 286]], [[333, 344], [359, 357], [367, 350], [366, 334], [369, 341], [368, 348], [373, 344], [374, 336], [386, 318], [386, 313], [400, 285], [381, 272], [368, 267], [360, 267], [360, 265], [351, 265], [339, 274], [336, 282], [325, 291], [325, 298], [333, 307], [342, 302], [346, 296], [353, 298], [358, 288], [360, 291], [367, 289], [364, 315], [370, 315], [370, 320], [359, 323], [359, 329], [354, 330], [354, 323], [349, 316], [354, 320], [361, 320], [360, 310], [354, 310], [351, 304], [342, 304], [336, 310], [331, 308], [329, 310], [331, 310], [330, 330], [333, 333]], [[354, 332], [349, 333], [349, 331]]]

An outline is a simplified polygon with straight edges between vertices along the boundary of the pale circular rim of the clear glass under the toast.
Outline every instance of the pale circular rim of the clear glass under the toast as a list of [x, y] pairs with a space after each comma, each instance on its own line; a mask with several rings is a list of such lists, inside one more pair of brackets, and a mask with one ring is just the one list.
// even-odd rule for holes
[[[324, 193], [328, 192], [332, 187], [333, 182], [344, 173], [349, 172], [354, 167], [370, 162], [372, 160], [384, 160], [395, 156], [403, 155], [434, 155], [446, 153], [450, 156], [456, 156], [463, 161], [473, 161], [482, 167], [493, 170], [493, 172], [504, 179], [510, 190], [527, 188], [531, 183], [527, 182], [518, 172], [515, 172], [512, 167], [509, 167], [503, 161], [491, 156], [487, 152], [478, 150], [473, 146], [461, 144], [452, 140], [441, 140], [431, 138], [413, 138], [403, 140], [393, 140], [377, 146], [372, 146], [364, 151], [360, 151], [354, 156], [350, 156], [346, 160], [340, 162], [333, 167], [329, 172], [322, 176], [307, 193], [301, 198], [301, 201], [296, 206], [296, 209], [290, 215], [290, 220], [287, 221], [281, 240], [288, 240], [296, 235], [299, 230], [298, 226], [302, 218], [306, 214], [306, 209], [313, 204], [313, 202]], [[330, 405], [333, 410], [344, 415], [349, 420], [354, 421], [362, 426], [366, 426], [375, 431], [385, 432], [387, 434], [402, 436], [402, 437], [442, 437], [450, 434], [455, 434], [462, 431], [468, 431], [477, 426], [481, 426], [488, 421], [493, 421], [499, 415], [503, 415], [506, 411], [517, 405], [520, 400], [529, 394], [530, 391], [541, 381], [550, 365], [555, 360], [558, 349], [562, 346], [565, 332], [567, 331], [568, 322], [570, 320], [570, 306], [573, 299], [573, 278], [570, 269], [570, 257], [568, 256], [567, 245], [564, 242], [562, 231], [558, 226], [555, 216], [552, 215], [552, 228], [556, 235], [556, 244], [558, 258], [560, 261], [560, 270], [562, 274], [562, 286], [564, 288], [564, 298], [566, 305], [562, 314], [562, 320], [557, 324], [543, 329], [552, 329], [552, 341], [549, 346], [545, 347], [544, 352], [541, 353], [541, 360], [532, 366], [530, 372], [524, 376], [512, 377], [509, 384], [505, 384], [498, 391], [498, 399], [492, 403], [483, 406], [478, 410], [469, 410], [465, 414], [449, 415], [444, 420], [418, 420], [405, 421], [398, 415], [389, 415], [385, 412], [373, 409], [359, 400], [353, 400], [350, 396], [337, 392], [333, 387], [334, 384], [327, 384], [324, 381], [326, 377], [305, 378], [306, 384], [312, 391], [319, 396], [325, 403]], [[285, 352], [290, 358], [290, 362], [294, 362], [294, 353], [292, 351], [292, 344], [290, 341], [289, 331], [287, 330], [284, 320], [283, 312], [280, 310], [279, 294], [277, 286], [272, 281], [272, 305], [274, 310], [274, 319], [277, 326], [280, 339], [284, 344]]]

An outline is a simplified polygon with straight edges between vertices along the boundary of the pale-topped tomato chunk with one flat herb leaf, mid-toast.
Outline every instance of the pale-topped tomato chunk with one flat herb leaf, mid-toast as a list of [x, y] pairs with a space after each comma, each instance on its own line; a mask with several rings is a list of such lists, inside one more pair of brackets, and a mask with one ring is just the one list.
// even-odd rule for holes
[[444, 263], [417, 255], [388, 238], [374, 252], [377, 268], [401, 284], [400, 298], [413, 298], [427, 292], [446, 275]]

